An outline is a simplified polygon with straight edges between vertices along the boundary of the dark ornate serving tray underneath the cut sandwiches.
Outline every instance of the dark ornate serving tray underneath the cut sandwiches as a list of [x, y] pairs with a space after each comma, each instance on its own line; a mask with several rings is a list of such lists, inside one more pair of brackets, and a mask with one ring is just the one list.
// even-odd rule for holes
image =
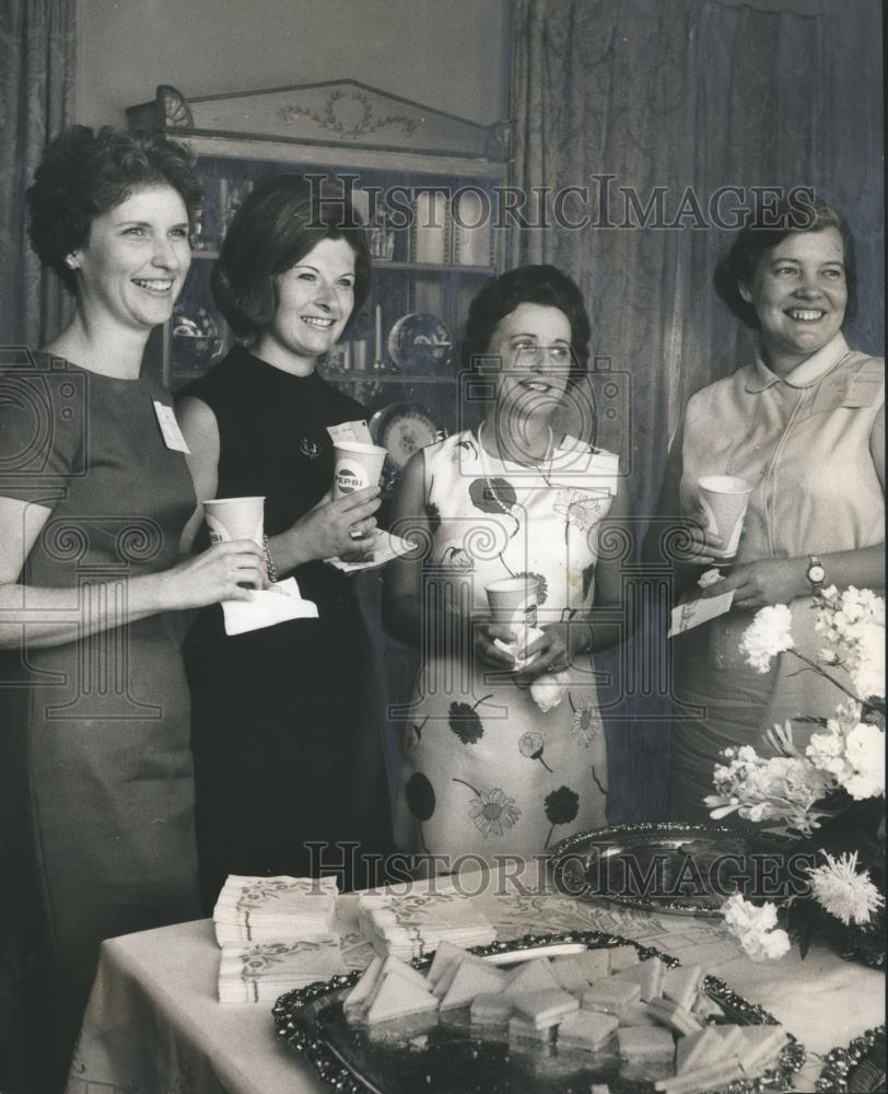
[[[600, 931], [569, 931], [562, 934], [526, 934], [514, 942], [475, 946], [481, 956], [521, 954], [554, 943], [580, 943], [588, 950], [632, 945], [642, 958], [678, 965], [657, 950]], [[527, 956], [531, 956], [529, 953]], [[516, 957], [516, 959], [518, 959]], [[428, 968], [431, 957], [411, 963]], [[616, 1055], [558, 1055], [558, 1050], [510, 1050], [505, 1041], [472, 1037], [470, 1026], [457, 1017], [439, 1022], [418, 1015], [394, 1028], [367, 1029], [349, 1025], [342, 1000], [357, 984], [360, 973], [335, 976], [330, 980], [299, 988], [281, 996], [272, 1014], [278, 1036], [302, 1052], [319, 1078], [343, 1094], [569, 1094], [588, 1091], [593, 1083], [606, 1083], [611, 1094], [653, 1094], [652, 1078], [621, 1071]], [[717, 977], [703, 981], [706, 994], [718, 1002], [728, 1022], [744, 1025], [774, 1025], [761, 1006], [735, 994]], [[423, 1021], [419, 1021], [423, 1020]], [[731, 1094], [786, 1091], [805, 1060], [804, 1047], [788, 1036], [779, 1066], [762, 1076], [738, 1080]]]

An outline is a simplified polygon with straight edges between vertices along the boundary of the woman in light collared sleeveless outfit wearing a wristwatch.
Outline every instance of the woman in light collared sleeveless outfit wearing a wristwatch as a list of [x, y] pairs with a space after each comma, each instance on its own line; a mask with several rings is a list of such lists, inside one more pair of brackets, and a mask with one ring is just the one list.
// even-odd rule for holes
[[[666, 487], [666, 504], [693, 514], [703, 475], [753, 485], [737, 563], [703, 593], [733, 592], [732, 609], [676, 642], [671, 808], [682, 821], [708, 819], [702, 799], [723, 748], [762, 750], [773, 723], [831, 715], [842, 699], [797, 673], [793, 657], [764, 675], [750, 667], [739, 643], [755, 612], [790, 604], [796, 647], [816, 657], [811, 595], [822, 585], [885, 585], [884, 362], [842, 336], [854, 307], [853, 238], [822, 201], [807, 223], [780, 212], [781, 228], [739, 232], [715, 279], [734, 314], [759, 330], [759, 354], [691, 398]], [[797, 743], [804, 730], [795, 726]]]

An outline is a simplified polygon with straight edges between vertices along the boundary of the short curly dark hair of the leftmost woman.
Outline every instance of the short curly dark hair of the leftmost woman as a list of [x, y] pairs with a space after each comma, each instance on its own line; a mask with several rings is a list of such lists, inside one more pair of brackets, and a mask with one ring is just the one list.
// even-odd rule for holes
[[95, 218], [159, 184], [180, 195], [194, 233], [203, 191], [186, 149], [152, 129], [69, 126], [46, 146], [25, 195], [31, 246], [73, 293], [65, 259], [86, 243]]

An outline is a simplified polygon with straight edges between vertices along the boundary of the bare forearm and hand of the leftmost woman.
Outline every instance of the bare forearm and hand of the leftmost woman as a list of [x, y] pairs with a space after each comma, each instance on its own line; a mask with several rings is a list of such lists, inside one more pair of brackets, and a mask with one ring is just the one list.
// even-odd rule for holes
[[[255, 544], [238, 540], [219, 544], [161, 573], [130, 578], [119, 616], [83, 613], [77, 587], [20, 584], [25, 559], [50, 514], [45, 505], [0, 497], [0, 648], [19, 647], [25, 627], [30, 647], [62, 645], [160, 612], [249, 600], [250, 590], [239, 587], [238, 582], [261, 587], [261, 551]], [[103, 592], [106, 603], [118, 603], [113, 585], [93, 587], [96, 597]]]

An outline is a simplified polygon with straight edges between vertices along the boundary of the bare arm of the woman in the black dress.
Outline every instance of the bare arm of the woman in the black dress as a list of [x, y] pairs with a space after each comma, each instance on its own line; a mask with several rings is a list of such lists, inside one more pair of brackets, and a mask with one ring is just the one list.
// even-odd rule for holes
[[[200, 522], [203, 520], [202, 501], [214, 498], [219, 487], [219, 456], [221, 442], [215, 415], [202, 400], [186, 396], [177, 407], [179, 428], [191, 454], [188, 466], [195, 480], [198, 508], [186, 525], [182, 547], [190, 550]], [[348, 557], [362, 554], [373, 544], [376, 521], [373, 514], [379, 508], [379, 488], [367, 487], [339, 498], [326, 501], [301, 516], [292, 527], [280, 535], [271, 536], [268, 549], [274, 561], [279, 577], [283, 577], [297, 566], [314, 559], [331, 558], [335, 555]], [[353, 528], [366, 537], [355, 542]]]

